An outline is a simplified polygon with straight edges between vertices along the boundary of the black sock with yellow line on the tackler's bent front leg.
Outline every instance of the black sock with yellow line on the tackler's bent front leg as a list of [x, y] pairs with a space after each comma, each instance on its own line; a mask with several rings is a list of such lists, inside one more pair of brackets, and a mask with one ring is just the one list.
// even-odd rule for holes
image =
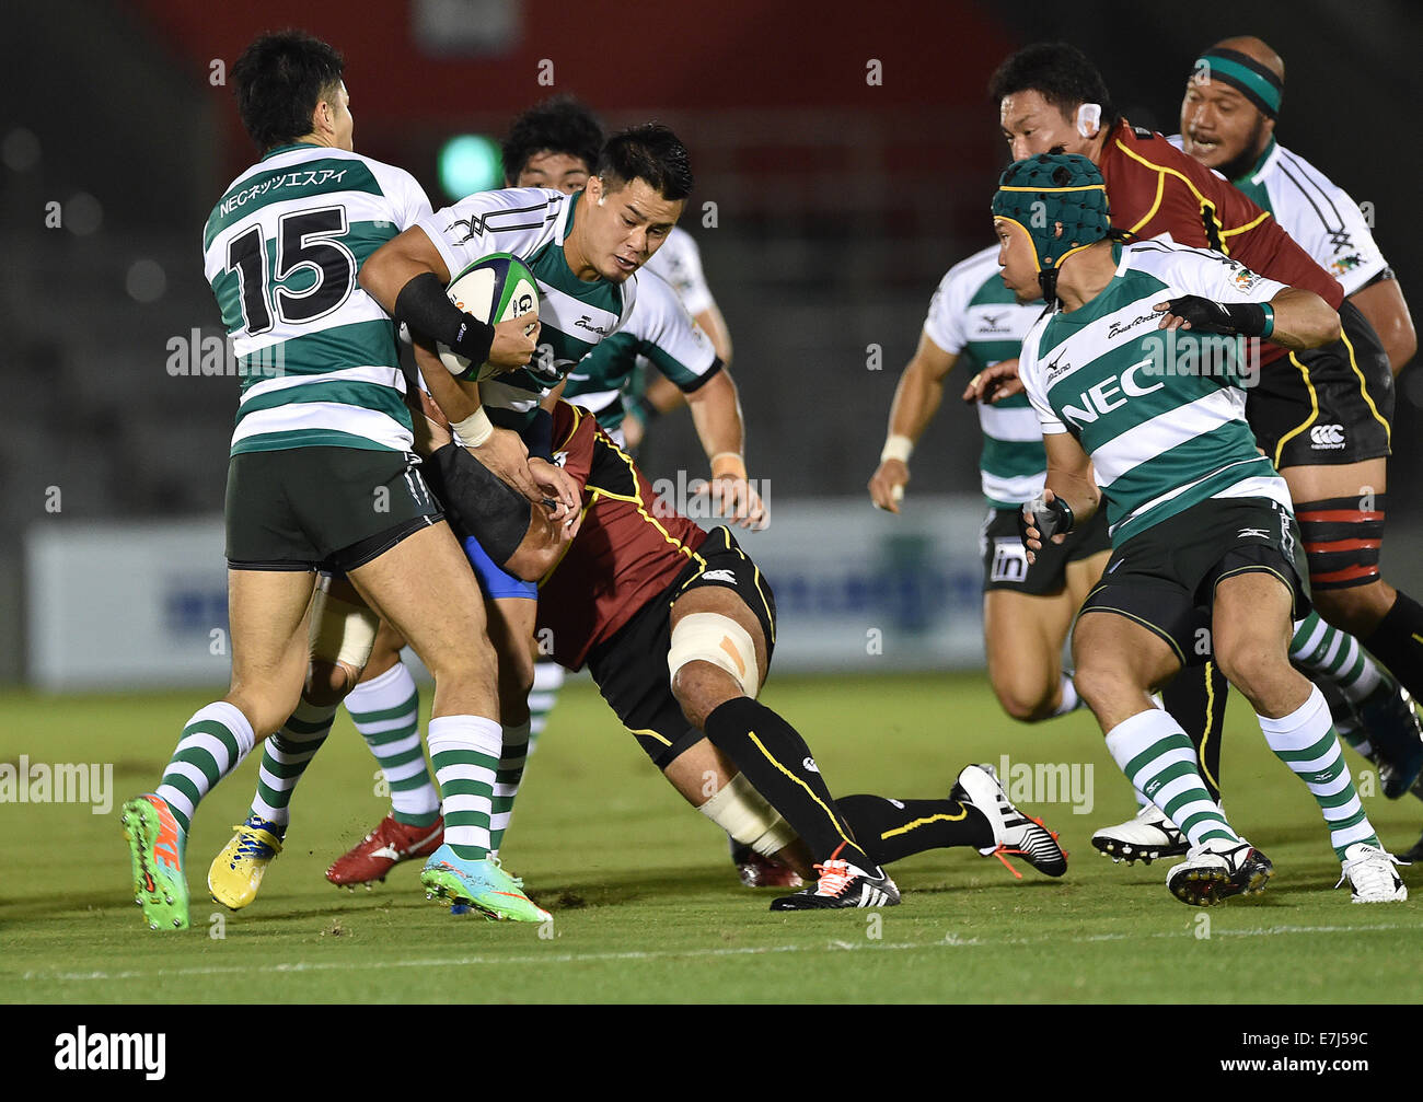
[[817, 862], [835, 857], [875, 872], [874, 859], [855, 845], [810, 747], [794, 727], [764, 704], [737, 697], [713, 711], [703, 729], [801, 836]]

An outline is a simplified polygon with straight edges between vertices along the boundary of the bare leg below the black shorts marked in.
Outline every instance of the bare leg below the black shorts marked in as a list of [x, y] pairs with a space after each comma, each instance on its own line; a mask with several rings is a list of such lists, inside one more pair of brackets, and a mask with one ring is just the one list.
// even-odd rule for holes
[[988, 675], [1003, 711], [1040, 722], [1076, 705], [1064, 700], [1062, 648], [1077, 611], [1067, 589], [1052, 596], [990, 589], [983, 594], [983, 646]]

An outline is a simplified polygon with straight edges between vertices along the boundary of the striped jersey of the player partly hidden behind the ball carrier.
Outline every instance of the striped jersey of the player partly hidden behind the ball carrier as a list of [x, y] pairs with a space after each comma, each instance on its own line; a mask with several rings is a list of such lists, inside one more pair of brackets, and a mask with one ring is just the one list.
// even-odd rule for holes
[[[653, 253], [653, 259], [666, 247]], [[586, 407], [598, 424], [612, 432], [626, 412], [623, 388], [639, 358], [670, 378], [683, 394], [702, 388], [721, 370], [712, 340], [692, 320], [677, 293], [646, 270], [639, 273], [638, 301], [628, 323], [568, 373], [564, 397]]]

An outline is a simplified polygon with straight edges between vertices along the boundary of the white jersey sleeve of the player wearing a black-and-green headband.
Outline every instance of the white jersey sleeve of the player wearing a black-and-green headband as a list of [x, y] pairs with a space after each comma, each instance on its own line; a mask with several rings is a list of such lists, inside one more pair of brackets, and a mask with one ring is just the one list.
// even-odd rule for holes
[[[1181, 135], [1170, 141], [1181, 148]], [[1389, 270], [1359, 205], [1323, 172], [1274, 138], [1259, 159], [1231, 182], [1339, 280], [1345, 294], [1353, 294]]]

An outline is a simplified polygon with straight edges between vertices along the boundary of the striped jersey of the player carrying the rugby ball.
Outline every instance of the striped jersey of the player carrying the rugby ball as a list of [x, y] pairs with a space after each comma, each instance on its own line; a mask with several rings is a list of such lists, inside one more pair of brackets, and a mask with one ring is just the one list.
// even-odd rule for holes
[[539, 400], [605, 337], [622, 327], [636, 300], [636, 276], [585, 282], [564, 256], [583, 192], [505, 188], [470, 195], [420, 222], [455, 279], [490, 253], [512, 253], [538, 280], [538, 353], [528, 367], [480, 384], [490, 419], [522, 428]]

